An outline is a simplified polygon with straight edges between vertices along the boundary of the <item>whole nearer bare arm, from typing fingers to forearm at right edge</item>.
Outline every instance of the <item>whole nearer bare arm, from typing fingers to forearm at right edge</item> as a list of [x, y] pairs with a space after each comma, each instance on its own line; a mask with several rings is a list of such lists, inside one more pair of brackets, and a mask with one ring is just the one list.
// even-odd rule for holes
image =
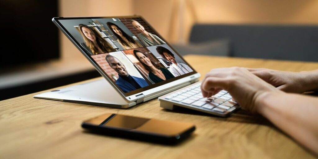
[[219, 68], [202, 81], [204, 97], [227, 90], [244, 109], [262, 114], [318, 154], [318, 98], [285, 93], [245, 68]]

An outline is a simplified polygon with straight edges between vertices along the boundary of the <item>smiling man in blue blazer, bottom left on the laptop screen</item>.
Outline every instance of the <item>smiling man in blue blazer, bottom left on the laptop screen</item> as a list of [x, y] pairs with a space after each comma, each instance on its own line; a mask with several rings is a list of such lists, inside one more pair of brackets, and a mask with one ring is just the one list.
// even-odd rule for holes
[[129, 75], [126, 67], [119, 59], [112, 55], [107, 55], [105, 59], [109, 66], [118, 73], [118, 79], [115, 83], [123, 92], [127, 93], [148, 86], [148, 83], [144, 79]]

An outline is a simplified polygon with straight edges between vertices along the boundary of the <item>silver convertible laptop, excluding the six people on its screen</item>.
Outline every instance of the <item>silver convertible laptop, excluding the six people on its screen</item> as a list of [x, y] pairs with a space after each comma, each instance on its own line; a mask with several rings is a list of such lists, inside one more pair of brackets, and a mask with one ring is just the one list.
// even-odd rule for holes
[[[152, 35], [156, 35], [156, 37], [161, 39], [159, 40], [158, 38], [154, 38], [155, 40], [153, 41], [163, 41], [164, 44], [147, 46], [148, 44], [144, 42], [142, 40], [142, 36], [139, 35], [141, 33], [138, 33], [138, 30], [136, 28], [131, 27], [131, 24], [134, 24], [132, 23], [133, 20], [138, 21], [138, 23], [140, 23], [141, 25], [143, 25], [144, 28], [146, 28], [145, 30], [151, 32]], [[167, 43], [167, 41], [165, 41], [156, 31], [154, 31], [152, 27], [140, 16], [68, 18], [57, 17], [53, 18], [52, 21], [73, 42], [73, 44], [82, 52], [82, 54], [92, 63], [92, 65], [96, 68], [97, 71], [99, 71], [99, 73], [104, 77], [104, 79], [99, 79], [96, 81], [91, 81], [75, 86], [65, 87], [59, 90], [53, 90], [50, 92], [37, 94], [34, 96], [34, 98], [58, 100], [104, 107], [128, 108], [135, 106], [136, 104], [157, 98], [166, 93], [183, 88], [185, 86], [189, 86], [199, 80], [200, 74], [197, 73], [182, 58], [182, 56], [180, 56], [174, 49], [172, 49], [171, 46]], [[111, 31], [111, 28], [107, 26], [107, 22], [116, 24], [117, 26], [121, 27], [122, 32], [126, 32], [128, 36], [135, 39], [135, 41], [138, 41], [138, 43], [142, 45], [142, 47], [132, 49], [125, 49], [124, 47], [122, 47], [118, 43], [119, 38], [116, 39], [116, 33]], [[86, 27], [89, 27], [90, 31], [93, 34], [99, 33], [100, 36], [103, 39], [105, 39], [105, 41], [101, 41], [104, 43], [109, 43], [116, 51], [101, 54], [92, 54], [92, 52], [89, 50], [89, 47], [87, 46], [88, 43], [86, 43], [86, 47], [83, 46], [85, 44], [85, 37], [83, 34], [80, 33], [80, 24], [84, 24]], [[114, 25], [112, 25], [111, 27], [113, 26]], [[84, 29], [81, 29], [81, 31], [84, 31]], [[143, 68], [142, 66], [144, 65], [141, 65], [142, 62], [139, 61], [138, 63], [138, 61], [136, 61], [136, 59], [132, 57], [134, 55], [129, 54], [129, 52], [131, 53], [133, 50], [139, 50], [143, 53], [146, 52], [145, 54], [149, 57], [149, 59], [150, 57], [153, 57], [152, 61], [155, 61], [156, 65], [160, 65], [160, 68], [170, 71], [170, 68], [168, 66], [169, 64], [167, 65], [169, 61], [165, 60], [164, 57], [161, 57], [155, 49], [159, 46], [168, 49], [175, 56], [176, 60], [178, 60], [177, 62], [189, 66], [190, 69], [188, 68], [188, 70], [192, 69], [192, 71], [178, 76], [174, 75], [175, 77], [170, 79], [166, 77], [165, 81], [154, 83], [151, 80], [151, 78], [149, 78], [150, 75], [147, 76], [147, 71], [145, 71], [146, 68]], [[135, 73], [131, 76], [137, 77], [138, 75], [139, 79], [144, 79], [147, 82], [148, 86], [130, 92], [124, 92], [123, 89], [116, 84], [117, 80], [119, 79], [119, 73], [116, 74], [114, 70], [109, 69], [110, 67], [105, 67], [105, 65], [107, 65], [107, 60], [105, 60], [104, 57], [107, 56], [106, 54], [109, 54], [115, 57], [116, 59], [120, 60], [122, 63], [125, 62], [126, 65], [129, 65], [130, 70], [128, 70], [127, 72], [129, 74], [130, 72]], [[100, 57], [104, 57], [104, 59], [101, 59], [104, 61], [99, 63], [99, 60], [97, 59]], [[110, 66], [111, 64], [108, 65]], [[127, 66], [126, 68], [128, 69]], [[110, 73], [110, 71], [112, 71], [112, 73]]]

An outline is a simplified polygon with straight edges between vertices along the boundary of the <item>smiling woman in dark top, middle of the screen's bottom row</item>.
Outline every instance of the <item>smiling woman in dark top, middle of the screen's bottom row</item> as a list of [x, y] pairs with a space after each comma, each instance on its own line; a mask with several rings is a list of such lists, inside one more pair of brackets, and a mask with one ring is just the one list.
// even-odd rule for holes
[[152, 62], [146, 54], [134, 50], [134, 55], [138, 59], [138, 61], [142, 64], [143, 67], [147, 71], [149, 71], [149, 78], [155, 82], [161, 82], [170, 78], [174, 78], [175, 76], [170, 73], [170, 71], [166, 68], [158, 67], [154, 62]]

